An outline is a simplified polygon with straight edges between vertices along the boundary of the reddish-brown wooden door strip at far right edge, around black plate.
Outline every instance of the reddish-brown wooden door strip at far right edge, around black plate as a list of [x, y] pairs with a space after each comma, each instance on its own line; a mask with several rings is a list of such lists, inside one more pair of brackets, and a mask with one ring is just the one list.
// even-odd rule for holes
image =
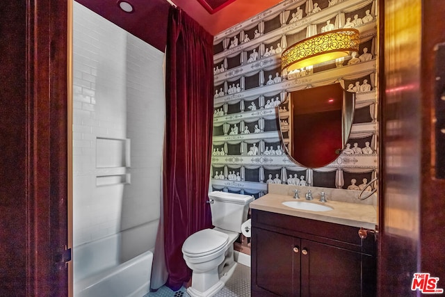
[[[435, 46], [445, 42], [444, 3], [422, 2], [422, 137], [421, 143], [421, 259], [423, 272], [439, 278], [438, 287], [445, 289], [445, 179], [435, 178]], [[444, 67], [444, 65], [438, 65]]]

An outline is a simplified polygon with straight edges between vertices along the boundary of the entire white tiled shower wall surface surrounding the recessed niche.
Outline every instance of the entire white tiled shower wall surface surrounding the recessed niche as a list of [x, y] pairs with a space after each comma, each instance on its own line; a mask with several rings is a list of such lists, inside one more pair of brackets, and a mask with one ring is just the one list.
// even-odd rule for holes
[[[154, 248], [156, 238], [163, 53], [75, 1], [73, 39], [74, 255], [76, 246], [143, 230], [143, 239], [121, 250], [127, 259]], [[131, 184], [96, 186], [97, 137], [131, 139]]]

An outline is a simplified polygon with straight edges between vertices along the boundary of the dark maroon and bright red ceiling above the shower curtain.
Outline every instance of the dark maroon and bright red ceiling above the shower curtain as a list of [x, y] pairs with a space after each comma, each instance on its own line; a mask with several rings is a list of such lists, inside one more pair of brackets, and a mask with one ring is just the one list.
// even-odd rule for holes
[[[120, 9], [118, 0], [75, 0], [161, 51], [167, 40], [167, 0], [126, 0], [133, 12]], [[282, 0], [171, 0], [211, 35], [257, 15]]]

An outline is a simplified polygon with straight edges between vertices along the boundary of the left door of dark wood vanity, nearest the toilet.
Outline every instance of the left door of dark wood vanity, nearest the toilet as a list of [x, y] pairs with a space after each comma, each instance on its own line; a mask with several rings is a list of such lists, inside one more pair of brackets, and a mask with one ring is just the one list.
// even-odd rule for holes
[[[300, 239], [252, 228], [252, 256], [253, 289], [265, 289], [270, 296], [299, 296], [294, 292], [300, 291]], [[257, 294], [252, 296], [267, 295]]]

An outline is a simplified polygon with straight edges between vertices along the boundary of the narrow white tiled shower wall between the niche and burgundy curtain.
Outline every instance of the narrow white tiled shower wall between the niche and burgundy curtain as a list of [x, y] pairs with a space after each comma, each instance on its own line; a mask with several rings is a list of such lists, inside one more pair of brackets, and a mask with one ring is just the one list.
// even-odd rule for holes
[[[165, 94], [163, 54], [127, 35], [127, 137], [131, 186], [122, 202], [121, 261], [154, 248], [161, 202]], [[140, 236], [138, 234], [145, 234]]]

